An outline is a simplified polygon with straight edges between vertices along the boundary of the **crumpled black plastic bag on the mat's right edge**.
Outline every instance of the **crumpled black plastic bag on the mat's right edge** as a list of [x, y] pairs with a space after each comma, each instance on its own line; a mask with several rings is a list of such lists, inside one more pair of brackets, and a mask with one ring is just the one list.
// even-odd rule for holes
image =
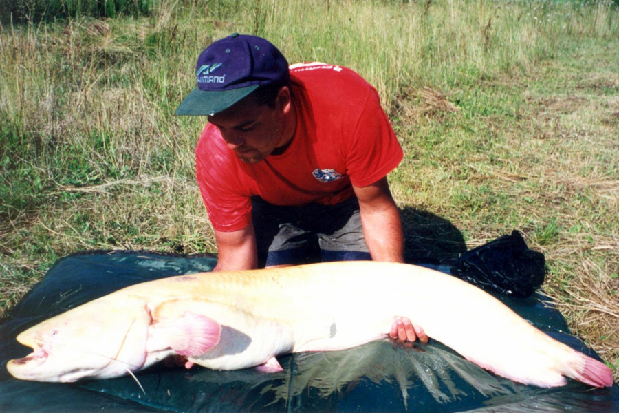
[[514, 230], [460, 255], [451, 273], [491, 293], [524, 298], [543, 284], [545, 258]]

